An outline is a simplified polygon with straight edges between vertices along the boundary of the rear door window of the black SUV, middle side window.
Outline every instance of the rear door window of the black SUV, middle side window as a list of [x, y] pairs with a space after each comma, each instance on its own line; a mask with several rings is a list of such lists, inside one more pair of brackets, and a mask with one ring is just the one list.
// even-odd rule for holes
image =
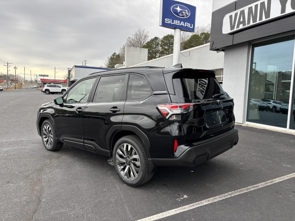
[[101, 77], [97, 85], [93, 102], [125, 101], [126, 75]]

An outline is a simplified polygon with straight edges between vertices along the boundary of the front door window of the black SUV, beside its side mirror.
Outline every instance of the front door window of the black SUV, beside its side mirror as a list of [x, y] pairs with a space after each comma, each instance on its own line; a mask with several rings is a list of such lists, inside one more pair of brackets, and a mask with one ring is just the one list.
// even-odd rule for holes
[[77, 83], [68, 93], [65, 103], [87, 102], [91, 88], [96, 78], [83, 80]]

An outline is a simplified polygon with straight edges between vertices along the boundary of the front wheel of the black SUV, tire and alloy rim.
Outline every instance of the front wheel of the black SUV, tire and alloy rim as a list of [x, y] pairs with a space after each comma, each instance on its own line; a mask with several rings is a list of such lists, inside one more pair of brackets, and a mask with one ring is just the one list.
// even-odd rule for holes
[[55, 128], [50, 120], [45, 120], [42, 123], [40, 132], [43, 145], [47, 150], [55, 151], [59, 150], [63, 146], [63, 143], [57, 141]]

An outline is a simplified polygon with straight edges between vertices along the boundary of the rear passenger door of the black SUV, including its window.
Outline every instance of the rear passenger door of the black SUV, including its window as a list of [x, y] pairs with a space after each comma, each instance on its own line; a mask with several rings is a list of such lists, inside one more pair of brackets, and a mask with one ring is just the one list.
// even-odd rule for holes
[[106, 135], [112, 126], [122, 125], [127, 78], [127, 74], [100, 77], [91, 98], [93, 102], [89, 102], [84, 111], [84, 146], [87, 151], [110, 156]]

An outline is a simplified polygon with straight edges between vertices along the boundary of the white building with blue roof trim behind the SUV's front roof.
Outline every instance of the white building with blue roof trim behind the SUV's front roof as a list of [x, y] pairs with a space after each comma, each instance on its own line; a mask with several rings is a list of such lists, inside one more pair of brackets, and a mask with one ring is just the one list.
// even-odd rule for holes
[[112, 70], [112, 68], [74, 65], [72, 68], [68, 68], [68, 86], [70, 87], [81, 77], [105, 70]]

